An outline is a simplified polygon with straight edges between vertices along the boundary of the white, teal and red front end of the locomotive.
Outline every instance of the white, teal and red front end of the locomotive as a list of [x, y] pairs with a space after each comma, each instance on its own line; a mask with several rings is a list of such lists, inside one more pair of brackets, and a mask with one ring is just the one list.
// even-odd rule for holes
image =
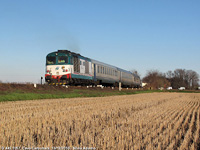
[[72, 56], [69, 51], [59, 50], [46, 56], [46, 82], [67, 84], [72, 71]]

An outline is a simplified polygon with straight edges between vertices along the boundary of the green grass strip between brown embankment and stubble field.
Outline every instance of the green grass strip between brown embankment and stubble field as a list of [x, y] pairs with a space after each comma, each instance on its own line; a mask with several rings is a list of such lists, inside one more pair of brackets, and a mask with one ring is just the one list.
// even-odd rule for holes
[[0, 92], [0, 102], [5, 101], [20, 101], [20, 100], [37, 100], [37, 99], [55, 99], [55, 98], [75, 98], [75, 97], [104, 97], [113, 95], [130, 95], [141, 93], [153, 93], [153, 92], [183, 92], [183, 93], [200, 93], [199, 91], [160, 91], [160, 90], [126, 90], [122, 91], [111, 89], [72, 89], [68, 91], [54, 90], [54, 91], [6, 91]]

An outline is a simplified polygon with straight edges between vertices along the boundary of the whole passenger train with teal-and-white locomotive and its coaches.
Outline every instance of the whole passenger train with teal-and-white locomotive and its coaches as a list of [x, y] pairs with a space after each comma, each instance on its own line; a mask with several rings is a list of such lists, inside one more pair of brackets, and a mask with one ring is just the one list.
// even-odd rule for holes
[[58, 50], [46, 56], [45, 81], [63, 85], [141, 86], [136, 74], [96, 61], [69, 50]]

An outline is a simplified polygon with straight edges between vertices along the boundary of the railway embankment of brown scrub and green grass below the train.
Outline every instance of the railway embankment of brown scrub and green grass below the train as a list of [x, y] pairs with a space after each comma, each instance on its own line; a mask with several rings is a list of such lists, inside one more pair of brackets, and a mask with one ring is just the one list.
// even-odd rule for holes
[[144, 90], [111, 87], [89, 87], [89, 86], [49, 86], [37, 84], [16, 84], [0, 83], [0, 102], [20, 101], [20, 100], [38, 100], [55, 98], [74, 98], [74, 97], [104, 97], [113, 95], [130, 95], [139, 93], [153, 92], [189, 92], [200, 93], [197, 91], [178, 91], [178, 90]]

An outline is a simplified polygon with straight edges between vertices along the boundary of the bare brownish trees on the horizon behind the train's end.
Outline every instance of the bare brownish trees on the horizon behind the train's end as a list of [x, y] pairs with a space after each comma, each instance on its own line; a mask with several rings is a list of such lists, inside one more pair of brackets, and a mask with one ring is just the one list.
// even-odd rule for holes
[[185, 87], [186, 89], [197, 89], [199, 87], [199, 74], [193, 70], [176, 69], [166, 73], [158, 70], [148, 71], [142, 82], [147, 83], [148, 87], [158, 89], [160, 87], [172, 87], [178, 89]]

